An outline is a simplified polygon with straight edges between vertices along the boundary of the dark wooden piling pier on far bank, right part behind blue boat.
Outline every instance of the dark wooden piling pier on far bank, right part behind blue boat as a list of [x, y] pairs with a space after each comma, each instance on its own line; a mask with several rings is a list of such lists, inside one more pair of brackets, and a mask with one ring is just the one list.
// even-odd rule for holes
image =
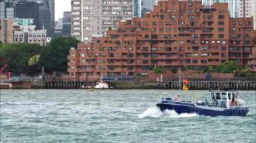
[[[183, 89], [183, 82], [162, 81], [158, 82], [157, 86], [159, 89], [179, 89], [179, 86]], [[256, 81], [190, 81], [187, 87], [189, 87], [189, 90], [256, 90]]]

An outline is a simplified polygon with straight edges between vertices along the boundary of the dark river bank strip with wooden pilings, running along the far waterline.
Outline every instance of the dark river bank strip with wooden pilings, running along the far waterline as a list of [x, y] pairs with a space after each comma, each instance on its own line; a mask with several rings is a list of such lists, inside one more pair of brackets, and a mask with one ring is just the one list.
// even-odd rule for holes
[[[1, 85], [0, 89], [82, 89], [82, 85], [95, 85], [86, 81], [20, 81]], [[8, 85], [8, 86], [7, 86]], [[11, 85], [11, 86], [9, 86]], [[112, 89], [179, 89], [183, 83], [179, 81], [112, 81], [108, 82]], [[256, 81], [190, 81], [189, 90], [238, 89], [256, 90]]]

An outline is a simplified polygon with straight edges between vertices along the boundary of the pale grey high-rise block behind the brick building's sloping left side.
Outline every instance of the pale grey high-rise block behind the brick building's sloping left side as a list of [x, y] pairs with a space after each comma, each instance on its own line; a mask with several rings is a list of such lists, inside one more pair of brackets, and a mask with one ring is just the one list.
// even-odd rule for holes
[[133, 0], [72, 0], [71, 35], [82, 42], [117, 29], [121, 20], [133, 17]]

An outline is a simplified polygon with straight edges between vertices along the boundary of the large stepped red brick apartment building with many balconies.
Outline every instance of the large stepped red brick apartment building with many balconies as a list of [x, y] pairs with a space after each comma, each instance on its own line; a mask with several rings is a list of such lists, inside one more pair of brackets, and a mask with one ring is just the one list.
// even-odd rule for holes
[[253, 18], [230, 18], [228, 3], [158, 1], [145, 17], [78, 44], [67, 57], [71, 77], [147, 75], [150, 66], [247, 65], [255, 47]]

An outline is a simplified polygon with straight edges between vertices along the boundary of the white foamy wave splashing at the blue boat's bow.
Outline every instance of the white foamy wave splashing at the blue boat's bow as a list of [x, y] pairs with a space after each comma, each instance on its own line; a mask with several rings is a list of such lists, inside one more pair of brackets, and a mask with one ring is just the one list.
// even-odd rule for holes
[[158, 107], [148, 107], [146, 111], [143, 111], [143, 113], [139, 113], [137, 117], [139, 119], [144, 118], [144, 117], [171, 117], [171, 118], [176, 118], [176, 117], [195, 117], [197, 116], [196, 113], [181, 113], [178, 114], [174, 110], [164, 110], [163, 112], [158, 108]]

